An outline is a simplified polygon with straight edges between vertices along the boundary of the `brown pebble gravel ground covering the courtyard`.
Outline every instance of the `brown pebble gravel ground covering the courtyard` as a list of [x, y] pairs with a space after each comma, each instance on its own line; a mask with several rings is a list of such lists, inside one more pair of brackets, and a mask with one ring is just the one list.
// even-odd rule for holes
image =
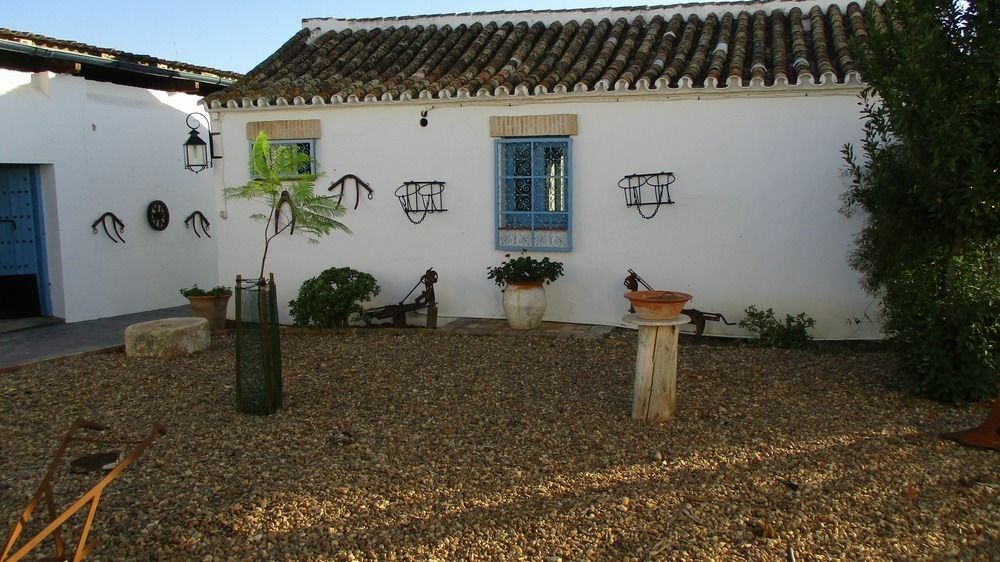
[[649, 426], [631, 335], [283, 338], [270, 417], [235, 412], [228, 337], [0, 373], [5, 529], [86, 417], [168, 428], [105, 493], [94, 560], [1000, 560], [1000, 456], [936, 437], [988, 410], [902, 394], [880, 353], [685, 342]]

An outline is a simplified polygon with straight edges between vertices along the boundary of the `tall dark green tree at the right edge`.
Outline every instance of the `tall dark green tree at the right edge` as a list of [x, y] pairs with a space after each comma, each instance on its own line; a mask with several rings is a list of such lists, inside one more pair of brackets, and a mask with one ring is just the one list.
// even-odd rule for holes
[[[894, 0], [855, 56], [864, 160], [844, 211], [865, 213], [851, 264], [882, 299], [915, 390], [996, 392], [1000, 333], [1000, 3]], [[875, 11], [869, 9], [869, 15]]]

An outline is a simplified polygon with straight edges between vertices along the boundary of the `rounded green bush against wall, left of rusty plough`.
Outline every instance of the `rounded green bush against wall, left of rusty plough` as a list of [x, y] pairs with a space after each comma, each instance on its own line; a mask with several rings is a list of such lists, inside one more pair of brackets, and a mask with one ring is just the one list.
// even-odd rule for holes
[[288, 303], [295, 323], [320, 328], [346, 327], [361, 303], [378, 295], [375, 278], [349, 267], [331, 267], [299, 288], [299, 297]]

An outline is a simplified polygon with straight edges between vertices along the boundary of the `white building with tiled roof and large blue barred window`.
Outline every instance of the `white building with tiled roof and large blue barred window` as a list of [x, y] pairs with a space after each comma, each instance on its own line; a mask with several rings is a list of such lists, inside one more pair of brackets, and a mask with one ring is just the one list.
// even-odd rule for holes
[[[524, 247], [565, 263], [546, 320], [620, 323], [632, 268], [730, 320], [754, 304], [806, 312], [817, 338], [877, 337], [847, 263], [860, 224], [838, 212], [839, 151], [862, 136], [848, 40], [864, 36], [857, 4], [795, 1], [305, 20], [206, 98], [226, 156], [220, 276], [256, 274], [255, 211], [220, 188], [249, 179], [263, 130], [310, 151], [317, 189], [374, 189], [346, 190], [353, 235], [272, 245], [282, 305], [328, 267], [373, 274], [379, 304], [434, 267], [441, 316], [502, 317], [486, 268]], [[626, 206], [626, 176], [666, 171], [672, 204]], [[397, 188], [431, 180], [447, 210], [404, 213]]]

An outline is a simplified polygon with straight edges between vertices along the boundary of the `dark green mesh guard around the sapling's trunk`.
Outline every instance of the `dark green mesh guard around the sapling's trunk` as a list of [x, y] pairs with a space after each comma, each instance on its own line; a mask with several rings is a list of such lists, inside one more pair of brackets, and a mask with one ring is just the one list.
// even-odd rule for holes
[[281, 407], [281, 336], [274, 274], [236, 276], [236, 409], [268, 415]]

